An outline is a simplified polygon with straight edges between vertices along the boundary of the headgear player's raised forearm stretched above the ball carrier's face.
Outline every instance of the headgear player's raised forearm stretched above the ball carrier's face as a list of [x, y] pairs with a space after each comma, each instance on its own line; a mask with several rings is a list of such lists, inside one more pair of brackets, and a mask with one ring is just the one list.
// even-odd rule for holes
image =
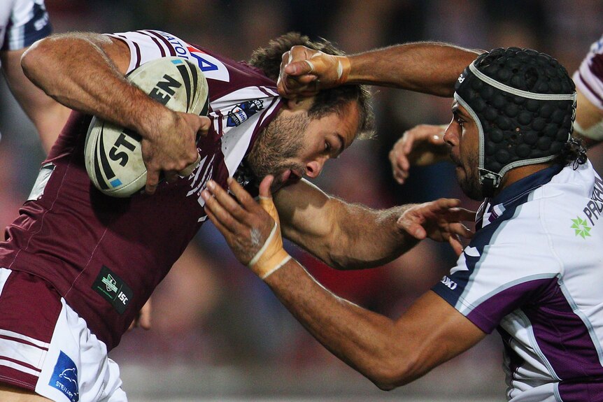
[[350, 56], [347, 82], [452, 96], [455, 81], [478, 54], [445, 43], [395, 45]]

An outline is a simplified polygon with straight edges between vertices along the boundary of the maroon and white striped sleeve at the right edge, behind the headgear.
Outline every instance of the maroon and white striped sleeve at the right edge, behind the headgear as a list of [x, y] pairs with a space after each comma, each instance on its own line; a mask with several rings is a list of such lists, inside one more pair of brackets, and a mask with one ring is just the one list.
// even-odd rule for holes
[[603, 36], [590, 46], [590, 52], [572, 78], [580, 92], [597, 108], [603, 109]]

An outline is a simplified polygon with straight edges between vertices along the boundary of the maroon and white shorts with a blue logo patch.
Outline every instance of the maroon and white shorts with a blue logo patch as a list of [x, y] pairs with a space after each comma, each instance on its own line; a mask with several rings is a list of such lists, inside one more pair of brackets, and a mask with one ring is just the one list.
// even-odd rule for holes
[[106, 345], [48, 282], [0, 268], [0, 382], [55, 402], [127, 402]]

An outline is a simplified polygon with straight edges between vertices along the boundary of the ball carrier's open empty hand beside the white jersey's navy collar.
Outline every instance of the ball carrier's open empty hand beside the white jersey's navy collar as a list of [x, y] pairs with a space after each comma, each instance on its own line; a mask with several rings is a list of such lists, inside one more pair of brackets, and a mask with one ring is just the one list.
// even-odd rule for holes
[[473, 236], [462, 221], [475, 220], [475, 212], [460, 208], [459, 204], [457, 199], [438, 199], [412, 206], [398, 218], [397, 225], [419, 240], [429, 237], [435, 241], [448, 241], [460, 255], [464, 248], [460, 237]]

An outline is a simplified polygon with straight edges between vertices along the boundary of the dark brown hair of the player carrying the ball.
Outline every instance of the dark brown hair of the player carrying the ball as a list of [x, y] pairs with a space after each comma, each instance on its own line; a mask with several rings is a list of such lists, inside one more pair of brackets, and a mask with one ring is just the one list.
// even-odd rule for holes
[[[264, 71], [268, 78], [276, 81], [281, 70], [283, 53], [295, 45], [303, 45], [306, 48], [320, 50], [329, 55], [344, 55], [341, 50], [335, 48], [332, 43], [325, 39], [311, 41], [308, 36], [298, 32], [289, 32], [271, 40], [266, 47], [255, 50], [248, 64]], [[315, 101], [308, 110], [308, 115], [319, 119], [330, 113], [339, 114], [342, 112], [343, 106], [355, 101], [360, 110], [357, 138], [371, 138], [374, 136], [374, 114], [369, 103], [370, 97], [366, 85], [341, 85], [340, 87], [323, 89], [315, 96]]]

